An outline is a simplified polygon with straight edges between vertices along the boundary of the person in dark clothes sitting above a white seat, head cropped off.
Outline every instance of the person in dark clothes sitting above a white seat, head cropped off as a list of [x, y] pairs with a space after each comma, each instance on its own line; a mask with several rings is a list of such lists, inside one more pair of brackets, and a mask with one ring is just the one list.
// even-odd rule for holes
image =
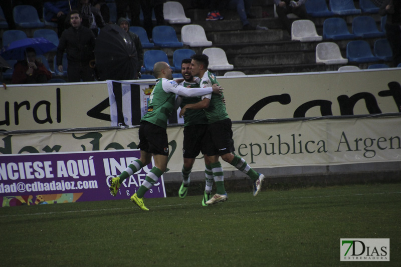
[[287, 15], [293, 13], [299, 18], [309, 20], [308, 13], [305, 8], [306, 0], [274, 0], [276, 5], [276, 12], [279, 20], [284, 24], [285, 29], [291, 36], [291, 21], [287, 18]]

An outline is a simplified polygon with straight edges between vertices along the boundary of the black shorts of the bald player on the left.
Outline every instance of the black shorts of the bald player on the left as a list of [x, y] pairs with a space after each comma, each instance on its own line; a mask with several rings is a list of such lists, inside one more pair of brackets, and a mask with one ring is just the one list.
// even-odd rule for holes
[[148, 153], [168, 156], [166, 129], [147, 121], [141, 122], [138, 148]]

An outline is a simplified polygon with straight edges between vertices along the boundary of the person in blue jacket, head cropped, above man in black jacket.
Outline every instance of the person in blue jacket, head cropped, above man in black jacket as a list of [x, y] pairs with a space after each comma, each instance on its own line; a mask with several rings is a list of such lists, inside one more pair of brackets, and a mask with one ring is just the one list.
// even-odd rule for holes
[[45, 11], [45, 20], [48, 22], [57, 23], [57, 35], [60, 38], [64, 30], [70, 27], [70, 25], [68, 24], [67, 15], [72, 8], [76, 7], [75, 0], [51, 0], [46, 2], [43, 7]]

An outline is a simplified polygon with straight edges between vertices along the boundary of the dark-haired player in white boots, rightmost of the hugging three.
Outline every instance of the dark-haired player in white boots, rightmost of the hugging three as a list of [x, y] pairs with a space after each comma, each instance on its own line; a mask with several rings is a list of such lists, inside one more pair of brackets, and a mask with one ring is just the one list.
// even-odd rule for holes
[[[204, 54], [196, 54], [191, 57], [191, 74], [198, 76], [200, 87], [209, 87], [213, 84], [219, 84], [215, 75], [208, 71], [209, 57]], [[185, 114], [189, 109], [204, 109], [209, 125], [205, 137], [205, 153], [208, 160], [211, 162], [213, 178], [216, 182], [216, 194], [206, 202], [213, 204], [227, 200], [227, 193], [224, 188], [224, 173], [219, 157], [230, 163], [237, 169], [246, 173], [254, 184], [254, 193], [256, 196], [262, 187], [262, 181], [265, 176], [253, 170], [248, 163], [241, 157], [234, 155], [234, 140], [233, 131], [231, 130], [231, 120], [226, 111], [226, 106], [223, 103], [223, 95], [208, 94], [202, 97], [202, 101], [196, 104], [188, 104], [180, 111], [180, 116]]]

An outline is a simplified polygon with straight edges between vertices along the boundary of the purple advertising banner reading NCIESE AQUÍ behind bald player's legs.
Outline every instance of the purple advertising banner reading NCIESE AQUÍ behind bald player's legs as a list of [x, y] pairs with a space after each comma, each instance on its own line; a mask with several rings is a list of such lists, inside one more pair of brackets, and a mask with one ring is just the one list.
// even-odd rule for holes
[[[137, 149], [0, 155], [0, 205], [129, 199], [153, 161], [125, 179], [115, 197], [110, 181], [139, 157]], [[163, 176], [146, 192], [151, 197], [166, 197]]]

